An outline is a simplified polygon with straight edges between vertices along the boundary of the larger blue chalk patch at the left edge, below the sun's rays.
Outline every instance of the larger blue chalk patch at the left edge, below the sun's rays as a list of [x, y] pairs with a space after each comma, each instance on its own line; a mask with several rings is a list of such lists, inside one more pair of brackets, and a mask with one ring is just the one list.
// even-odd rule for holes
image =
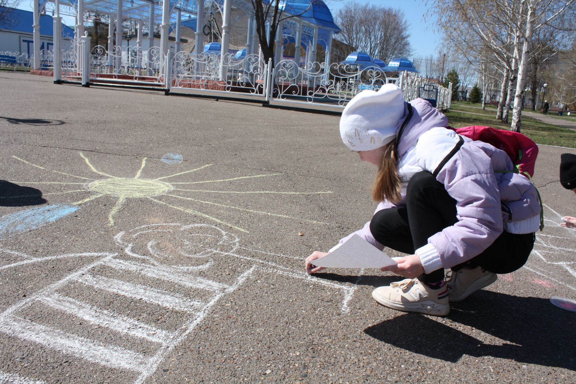
[[79, 210], [78, 206], [56, 204], [29, 208], [0, 218], [0, 239], [39, 228]]

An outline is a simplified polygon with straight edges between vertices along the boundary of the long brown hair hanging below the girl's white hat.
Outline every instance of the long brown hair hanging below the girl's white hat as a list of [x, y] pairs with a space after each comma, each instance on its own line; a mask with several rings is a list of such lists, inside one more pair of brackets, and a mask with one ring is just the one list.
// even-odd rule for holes
[[380, 203], [384, 198], [391, 203], [400, 202], [402, 182], [396, 168], [397, 163], [398, 153], [396, 139], [394, 139], [382, 149], [382, 159], [376, 173], [376, 181], [372, 187], [372, 199], [377, 203]]

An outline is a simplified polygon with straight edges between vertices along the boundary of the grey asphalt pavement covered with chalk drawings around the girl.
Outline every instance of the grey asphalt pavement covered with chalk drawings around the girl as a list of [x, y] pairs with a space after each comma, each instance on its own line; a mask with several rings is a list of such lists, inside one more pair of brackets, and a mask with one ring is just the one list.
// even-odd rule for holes
[[[572, 383], [576, 195], [540, 146], [525, 267], [445, 318], [304, 258], [370, 219], [338, 117], [0, 72], [0, 383]], [[389, 252], [391, 256], [400, 256]]]

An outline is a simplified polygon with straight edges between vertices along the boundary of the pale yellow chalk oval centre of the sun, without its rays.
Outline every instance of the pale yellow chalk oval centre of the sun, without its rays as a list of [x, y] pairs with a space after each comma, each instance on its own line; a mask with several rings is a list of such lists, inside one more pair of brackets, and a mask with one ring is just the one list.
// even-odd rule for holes
[[106, 178], [86, 185], [100, 195], [117, 197], [151, 197], [172, 191], [172, 185], [159, 180], [145, 178]]

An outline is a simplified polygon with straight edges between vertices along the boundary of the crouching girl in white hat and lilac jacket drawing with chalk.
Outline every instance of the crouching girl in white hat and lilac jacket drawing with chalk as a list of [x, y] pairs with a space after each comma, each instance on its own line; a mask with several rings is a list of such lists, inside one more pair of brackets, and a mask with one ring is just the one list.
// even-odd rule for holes
[[[378, 207], [354, 234], [409, 255], [381, 268], [407, 279], [372, 292], [392, 309], [447, 315], [450, 302], [521, 268], [540, 226], [537, 191], [513, 172], [508, 155], [447, 126], [430, 102], [405, 102], [393, 84], [358, 93], [342, 112], [344, 145], [378, 168]], [[314, 260], [326, 254], [308, 256], [306, 272], [324, 269]], [[445, 268], [452, 269], [449, 281]]]

